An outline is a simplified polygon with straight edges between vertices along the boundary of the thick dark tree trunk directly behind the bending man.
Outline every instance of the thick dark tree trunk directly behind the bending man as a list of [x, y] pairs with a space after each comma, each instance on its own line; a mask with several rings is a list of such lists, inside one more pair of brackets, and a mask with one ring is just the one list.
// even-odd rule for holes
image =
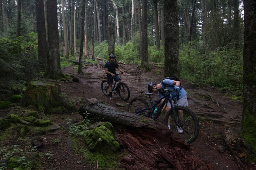
[[[170, 8], [170, 6], [172, 8]], [[180, 75], [179, 68], [179, 19], [177, 0], [164, 1], [164, 76]]]

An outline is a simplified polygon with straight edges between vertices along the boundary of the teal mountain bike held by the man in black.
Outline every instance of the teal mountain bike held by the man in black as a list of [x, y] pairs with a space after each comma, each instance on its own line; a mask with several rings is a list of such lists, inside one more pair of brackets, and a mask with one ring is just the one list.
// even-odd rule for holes
[[[123, 74], [123, 73], [119, 73], [119, 74]], [[118, 94], [123, 101], [127, 101], [130, 98], [130, 89], [127, 86], [127, 84], [122, 82], [121, 77], [118, 76], [119, 74], [115, 74], [115, 77], [114, 77], [115, 82], [114, 82], [114, 85], [112, 86], [112, 92], [114, 92], [115, 95]], [[107, 80], [103, 80], [101, 82], [101, 90], [105, 96], [110, 95], [109, 85]]]

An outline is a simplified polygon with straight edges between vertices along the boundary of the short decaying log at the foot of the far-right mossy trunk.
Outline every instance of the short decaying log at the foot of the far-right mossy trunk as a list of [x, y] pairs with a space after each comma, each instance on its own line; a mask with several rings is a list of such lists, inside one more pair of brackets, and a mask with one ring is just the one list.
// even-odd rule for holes
[[238, 166], [240, 168], [240, 163], [242, 163], [241, 161], [247, 157], [246, 144], [240, 138], [235, 129], [230, 125], [225, 124], [222, 129], [222, 137], [224, 138], [234, 157], [237, 159]]

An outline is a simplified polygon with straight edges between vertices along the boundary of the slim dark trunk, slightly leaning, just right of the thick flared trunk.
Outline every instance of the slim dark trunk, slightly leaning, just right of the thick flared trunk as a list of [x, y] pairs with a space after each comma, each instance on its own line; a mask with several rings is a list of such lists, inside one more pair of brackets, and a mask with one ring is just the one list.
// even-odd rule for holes
[[82, 74], [83, 73], [83, 66], [82, 66], [82, 62], [83, 62], [83, 45], [84, 45], [84, 16], [85, 16], [85, 4], [87, 3], [86, 0], [82, 1], [82, 11], [81, 11], [81, 35], [80, 35], [80, 51], [79, 51], [79, 65], [78, 65], [78, 74]]

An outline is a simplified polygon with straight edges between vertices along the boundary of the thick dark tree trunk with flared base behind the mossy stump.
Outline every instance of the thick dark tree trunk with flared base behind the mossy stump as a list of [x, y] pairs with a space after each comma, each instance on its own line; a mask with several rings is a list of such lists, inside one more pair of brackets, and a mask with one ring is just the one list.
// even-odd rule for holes
[[47, 29], [48, 29], [48, 50], [47, 64], [44, 75], [52, 79], [64, 77], [60, 69], [60, 51], [59, 51], [59, 30], [57, 1], [46, 2], [47, 8]]

